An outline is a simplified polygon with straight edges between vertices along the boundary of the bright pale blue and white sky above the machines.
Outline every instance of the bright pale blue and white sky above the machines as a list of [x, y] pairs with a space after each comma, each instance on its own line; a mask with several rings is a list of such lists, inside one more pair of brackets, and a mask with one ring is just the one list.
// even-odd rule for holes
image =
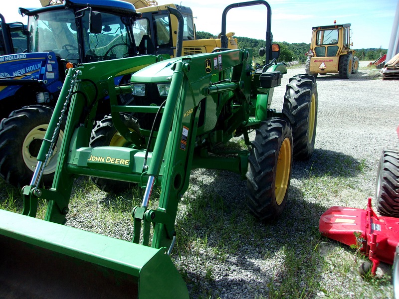
[[[5, 2], [5, 0], [1, 0]], [[352, 41], [355, 49], [387, 49], [390, 43], [399, 0], [269, 0], [271, 7], [271, 32], [273, 41], [310, 43], [312, 27], [351, 23]], [[159, 4], [176, 3], [193, 10], [197, 31], [217, 35], [221, 31], [223, 9], [234, 0], [178, 0]], [[40, 7], [39, 0], [7, 1], [0, 13], [6, 22], [27, 18], [18, 14], [18, 7]], [[235, 36], [265, 39], [266, 6], [231, 8], [227, 12], [226, 31]]]

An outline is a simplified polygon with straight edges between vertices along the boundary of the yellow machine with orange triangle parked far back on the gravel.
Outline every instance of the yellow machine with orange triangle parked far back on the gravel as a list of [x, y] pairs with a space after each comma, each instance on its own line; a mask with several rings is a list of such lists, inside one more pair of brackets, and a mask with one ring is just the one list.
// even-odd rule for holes
[[306, 53], [305, 71], [308, 75], [336, 74], [349, 79], [358, 72], [359, 58], [351, 49], [351, 24], [317, 26], [312, 28], [310, 50]]

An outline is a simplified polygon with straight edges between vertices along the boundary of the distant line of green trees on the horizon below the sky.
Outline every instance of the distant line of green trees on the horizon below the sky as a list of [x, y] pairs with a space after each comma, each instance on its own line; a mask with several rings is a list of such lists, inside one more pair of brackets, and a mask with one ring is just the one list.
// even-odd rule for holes
[[[197, 31], [196, 34], [197, 39], [217, 38], [216, 35], [204, 31]], [[253, 56], [255, 58], [255, 61], [261, 63], [262, 57], [259, 56], [258, 51], [261, 47], [265, 46], [264, 40], [241, 36], [234, 36], [234, 38], [237, 39], [239, 48], [253, 49]], [[286, 41], [277, 41], [275, 43], [278, 43], [280, 45], [280, 57], [278, 59], [279, 61], [299, 61], [299, 63], [305, 63], [307, 57], [305, 54], [310, 49], [310, 43], [288, 43]], [[374, 61], [380, 58], [382, 55], [387, 54], [387, 49], [382, 48], [355, 49], [355, 51], [355, 55], [359, 57], [360, 60]]]

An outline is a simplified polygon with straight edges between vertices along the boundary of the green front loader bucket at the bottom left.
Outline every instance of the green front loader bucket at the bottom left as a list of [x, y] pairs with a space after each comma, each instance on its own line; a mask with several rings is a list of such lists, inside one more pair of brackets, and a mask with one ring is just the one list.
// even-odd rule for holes
[[165, 251], [0, 210], [0, 298], [189, 298]]

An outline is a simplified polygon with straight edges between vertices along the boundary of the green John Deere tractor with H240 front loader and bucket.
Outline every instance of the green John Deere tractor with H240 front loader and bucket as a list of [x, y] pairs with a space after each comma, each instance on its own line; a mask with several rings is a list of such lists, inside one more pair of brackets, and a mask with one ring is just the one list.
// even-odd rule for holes
[[[267, 8], [267, 39], [265, 65], [255, 70], [251, 50], [227, 49], [225, 20], [229, 9], [256, 4]], [[276, 62], [279, 46], [272, 44], [270, 25], [266, 1], [230, 4], [222, 15], [221, 48], [212, 53], [172, 59], [148, 55], [69, 69], [31, 184], [22, 189], [22, 215], [0, 210], [0, 297], [188, 298], [169, 255], [178, 204], [194, 168], [240, 174], [247, 180], [247, 206], [261, 221], [283, 212], [293, 156], [309, 158], [314, 148], [317, 85], [313, 76], [294, 76], [282, 112], [270, 109], [273, 90], [286, 73]], [[149, 66], [137, 70], [129, 86], [115, 85], [115, 76], [144, 64]], [[90, 147], [104, 93], [121, 138], [118, 146], [106, 145], [107, 140], [94, 147], [92, 140]], [[121, 94], [133, 95], [131, 105], [118, 105]], [[43, 188], [42, 171], [64, 118], [54, 181]], [[238, 136], [250, 150], [220, 147]], [[145, 187], [141, 206], [132, 207], [132, 242], [62, 225], [80, 175]], [[160, 199], [157, 208], [150, 208], [154, 186], [161, 188]], [[48, 201], [44, 220], [34, 218], [39, 199]]]

